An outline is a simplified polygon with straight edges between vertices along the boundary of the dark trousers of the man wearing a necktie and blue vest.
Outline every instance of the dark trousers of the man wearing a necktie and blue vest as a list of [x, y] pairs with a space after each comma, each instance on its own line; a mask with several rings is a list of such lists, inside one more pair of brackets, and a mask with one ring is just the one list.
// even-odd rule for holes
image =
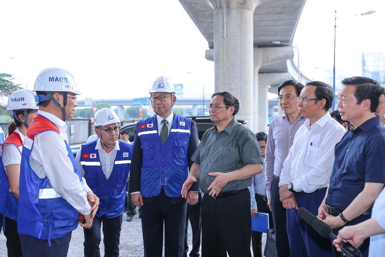
[[145, 257], [162, 257], [165, 226], [165, 257], [181, 257], [184, 253], [184, 229], [187, 204], [172, 203], [165, 191], [150, 203], [143, 200], [142, 232]]

